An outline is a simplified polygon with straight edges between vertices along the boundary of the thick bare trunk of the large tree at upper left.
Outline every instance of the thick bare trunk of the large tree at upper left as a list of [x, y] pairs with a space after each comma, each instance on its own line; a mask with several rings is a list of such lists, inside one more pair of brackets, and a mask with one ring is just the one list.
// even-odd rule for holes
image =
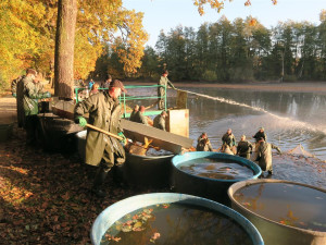
[[73, 99], [77, 0], [59, 0], [54, 56], [54, 95]]

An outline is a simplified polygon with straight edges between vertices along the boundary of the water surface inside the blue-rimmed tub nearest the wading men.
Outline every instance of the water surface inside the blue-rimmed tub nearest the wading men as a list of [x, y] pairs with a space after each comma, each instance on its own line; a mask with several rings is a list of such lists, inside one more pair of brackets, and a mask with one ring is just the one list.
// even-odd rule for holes
[[192, 175], [216, 180], [249, 180], [254, 173], [244, 164], [227, 159], [199, 158], [183, 162], [178, 168]]

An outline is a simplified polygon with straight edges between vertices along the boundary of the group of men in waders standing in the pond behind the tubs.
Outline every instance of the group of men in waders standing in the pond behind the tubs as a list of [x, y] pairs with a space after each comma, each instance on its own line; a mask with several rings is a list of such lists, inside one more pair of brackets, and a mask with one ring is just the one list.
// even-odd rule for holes
[[[272, 149], [276, 149], [280, 155], [281, 151], [279, 147], [266, 142], [267, 136], [264, 127], [260, 127], [260, 130], [252, 137], [255, 139], [254, 149], [253, 145], [246, 140], [246, 135], [241, 136], [241, 139], [237, 145], [231, 128], [228, 128], [222, 137], [222, 147], [217, 151], [229, 155], [238, 155], [239, 157], [247, 159], [251, 159], [252, 151], [255, 151], [253, 160], [259, 163], [263, 171], [267, 171], [268, 175], [272, 175]], [[199, 136], [196, 149], [198, 151], [214, 151], [206, 133], [202, 133]]]

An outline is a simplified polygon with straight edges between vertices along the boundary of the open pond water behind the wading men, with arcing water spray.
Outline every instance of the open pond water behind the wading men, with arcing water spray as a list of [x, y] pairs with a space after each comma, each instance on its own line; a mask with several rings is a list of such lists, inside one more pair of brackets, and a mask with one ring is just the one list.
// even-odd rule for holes
[[[228, 127], [233, 128], [237, 142], [244, 134], [253, 143], [252, 135], [260, 126], [264, 126], [267, 140], [280, 147], [284, 152], [281, 156], [276, 152], [273, 155], [272, 177], [326, 186], [325, 94], [201, 86], [180, 89], [200, 94], [188, 94], [187, 100], [189, 137], [193, 139], [193, 144], [202, 132], [206, 132], [213, 148], [217, 149]], [[153, 96], [156, 90], [139, 88], [129, 89], [128, 93], [133, 96]], [[167, 96], [167, 107], [174, 107], [176, 91], [168, 89]], [[142, 103], [147, 107], [153, 101]], [[139, 105], [142, 103], [139, 101]], [[287, 154], [299, 144], [316, 158]]]

